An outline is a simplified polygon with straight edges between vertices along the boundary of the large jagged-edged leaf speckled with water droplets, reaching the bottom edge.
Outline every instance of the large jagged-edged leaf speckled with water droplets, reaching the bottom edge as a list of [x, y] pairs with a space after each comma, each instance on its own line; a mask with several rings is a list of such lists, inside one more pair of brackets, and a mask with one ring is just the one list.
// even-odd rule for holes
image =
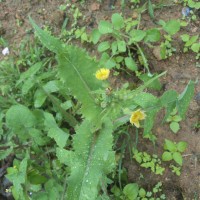
[[93, 133], [91, 123], [85, 120], [76, 129], [74, 151], [67, 151], [67, 155], [63, 155], [66, 150], [62, 150], [62, 153], [59, 151], [61, 158], [65, 158], [64, 162], [71, 168], [67, 187], [68, 200], [97, 198], [100, 181], [115, 166], [112, 130], [112, 122], [105, 119], [101, 130]]

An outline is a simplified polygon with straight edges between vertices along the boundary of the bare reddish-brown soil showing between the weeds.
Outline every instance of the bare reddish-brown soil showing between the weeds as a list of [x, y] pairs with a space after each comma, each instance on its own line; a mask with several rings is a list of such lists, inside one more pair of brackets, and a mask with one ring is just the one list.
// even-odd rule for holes
[[[95, 3], [96, 1], [86, 0], [83, 6], [80, 6], [78, 1], [72, 0], [81, 12], [86, 16], [83, 20], [83, 25], [91, 31], [91, 28], [96, 27], [97, 23], [102, 19], [109, 19], [112, 13], [122, 12], [124, 16], [131, 17], [133, 10], [127, 5], [123, 10], [120, 6], [120, 1], [115, 2], [115, 9], [111, 10], [109, 3], [113, 1], [102, 1], [101, 4]], [[158, 2], [158, 1], [152, 1]], [[59, 11], [58, 7], [65, 3], [64, 0], [3, 0], [0, 1], [0, 35], [9, 42], [11, 53], [17, 54], [16, 49], [20, 41], [25, 37], [32, 37], [28, 30], [31, 30], [28, 16], [36, 20], [40, 26], [49, 25], [53, 28], [55, 33], [58, 33], [62, 23], [68, 15], [68, 12]], [[181, 18], [181, 5], [163, 7], [155, 11], [156, 19], [177, 19]], [[21, 23], [17, 25], [17, 21]], [[200, 22], [197, 20], [195, 23], [190, 23], [189, 26], [183, 28], [180, 32], [188, 33], [190, 35], [199, 33]], [[153, 27], [155, 24], [151, 21], [148, 13], [142, 15], [142, 22], [140, 28]], [[179, 35], [175, 36], [173, 45], [176, 47], [177, 52], [167, 60], [159, 61], [152, 53], [152, 49], [144, 46], [145, 54], [149, 60], [150, 67], [153, 72], [167, 71], [167, 75], [162, 78], [162, 83], [165, 89], [175, 89], [179, 93], [183, 91], [189, 80], [196, 80], [200, 78], [200, 68], [195, 65], [195, 56], [192, 53], [183, 54], [183, 43]], [[0, 47], [2, 50], [3, 47]], [[3, 56], [0, 55], [0, 59]], [[200, 82], [196, 84], [195, 95], [200, 92]], [[177, 177], [169, 170], [169, 165], [166, 164], [166, 170], [163, 176], [157, 176], [149, 170], [142, 169], [135, 161], [130, 161], [129, 155], [124, 159], [124, 166], [128, 171], [128, 179], [130, 182], [137, 182], [144, 188], [148, 189], [155, 185], [158, 181], [163, 183], [163, 192], [166, 194], [167, 199], [192, 200], [200, 196], [200, 130], [195, 129], [194, 125], [200, 119], [200, 107], [195, 101], [192, 100], [187, 117], [181, 122], [181, 130], [177, 134], [173, 134], [168, 124], [162, 124], [161, 119], [164, 113], [161, 112], [157, 117], [153, 133], [158, 137], [155, 149], [152, 143], [140, 138], [138, 147], [140, 150], [145, 150], [149, 153], [157, 153], [159, 156], [163, 152], [164, 139], [173, 141], [187, 141], [188, 148], [184, 153], [184, 164], [180, 177]], [[132, 131], [131, 135], [134, 136]], [[139, 178], [139, 174], [143, 174], [144, 179]]]

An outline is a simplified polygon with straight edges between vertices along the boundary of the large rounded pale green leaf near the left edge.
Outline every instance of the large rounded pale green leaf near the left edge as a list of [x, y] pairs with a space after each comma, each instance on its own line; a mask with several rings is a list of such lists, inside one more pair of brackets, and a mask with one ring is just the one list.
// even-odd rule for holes
[[14, 130], [33, 127], [35, 122], [35, 116], [23, 105], [11, 106], [6, 113], [6, 124]]

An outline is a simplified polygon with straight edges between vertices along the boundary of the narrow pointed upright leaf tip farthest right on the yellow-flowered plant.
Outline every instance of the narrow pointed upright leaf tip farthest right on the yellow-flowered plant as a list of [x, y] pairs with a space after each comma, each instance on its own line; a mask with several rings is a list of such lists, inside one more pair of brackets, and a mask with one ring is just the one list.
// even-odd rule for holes
[[194, 81], [190, 81], [184, 91], [178, 97], [178, 114], [182, 119], [185, 119], [185, 114], [189, 107], [190, 101], [194, 96]]

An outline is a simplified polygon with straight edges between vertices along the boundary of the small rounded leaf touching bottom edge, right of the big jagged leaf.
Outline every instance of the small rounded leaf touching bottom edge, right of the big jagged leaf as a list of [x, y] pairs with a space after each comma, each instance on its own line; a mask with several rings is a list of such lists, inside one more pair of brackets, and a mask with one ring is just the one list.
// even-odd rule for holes
[[123, 189], [124, 195], [128, 200], [134, 200], [137, 198], [139, 193], [139, 186], [137, 183], [129, 183]]

